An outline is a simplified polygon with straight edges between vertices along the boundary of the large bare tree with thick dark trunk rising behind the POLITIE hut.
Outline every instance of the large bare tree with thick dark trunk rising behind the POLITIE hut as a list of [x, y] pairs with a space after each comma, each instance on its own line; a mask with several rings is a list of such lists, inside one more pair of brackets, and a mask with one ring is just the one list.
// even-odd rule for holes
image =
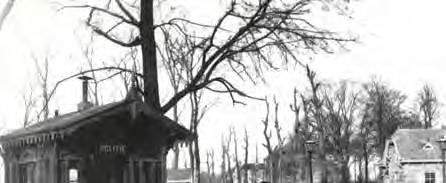
[[[317, 28], [306, 19], [305, 15], [310, 12], [308, 9], [314, 2], [316, 1], [259, 0], [258, 3], [232, 1], [227, 11], [214, 25], [177, 17], [155, 25], [156, 9], [153, 8], [153, 0], [139, 1], [139, 6], [115, 0], [104, 3], [104, 6], [79, 5], [64, 8], [90, 9], [86, 23], [97, 35], [123, 47], [140, 46], [145, 102], [155, 109], [167, 112], [187, 94], [203, 88], [209, 89], [211, 85], [214, 85], [211, 91], [229, 93], [235, 103], [239, 101], [234, 95], [248, 97], [223, 75], [215, 72], [224, 65], [230, 66], [238, 76], [253, 78], [252, 76], [261, 76], [264, 68], [275, 68], [272, 60], [276, 59], [269, 59], [267, 53], [276, 52], [285, 61], [293, 60], [300, 63], [294, 50], [331, 52], [331, 43], [352, 41], [353, 39], [343, 39], [335, 33]], [[111, 3], [116, 6], [111, 6]], [[117, 10], [111, 7], [117, 7]], [[106, 28], [105, 24], [98, 23], [101, 21], [95, 21], [101, 15], [109, 16], [117, 23]], [[229, 24], [240, 24], [240, 26], [228, 26]], [[189, 31], [186, 27], [200, 30], [200, 36], [194, 35], [194, 31]], [[123, 36], [116, 35], [117, 31], [123, 29], [136, 29], [139, 35], [127, 36], [130, 40], [123, 41], [118, 38]], [[158, 34], [157, 30], [161, 34]], [[189, 53], [194, 54], [193, 57], [183, 60], [193, 63], [194, 74], [178, 93], [161, 105], [156, 51], [159, 44], [156, 43], [155, 37], [161, 38], [163, 32], [171, 33], [167, 38], [169, 40], [176, 39], [189, 43], [180, 45], [186, 45]], [[215, 84], [219, 84], [220, 89], [215, 89]]]

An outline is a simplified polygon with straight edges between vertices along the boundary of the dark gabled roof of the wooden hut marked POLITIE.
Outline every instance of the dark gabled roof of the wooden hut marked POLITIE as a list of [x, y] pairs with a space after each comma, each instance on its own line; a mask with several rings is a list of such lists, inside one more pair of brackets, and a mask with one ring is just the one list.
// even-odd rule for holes
[[143, 104], [141, 100], [127, 97], [119, 102], [68, 113], [14, 130], [1, 136], [0, 143], [2, 146], [17, 146], [63, 139], [65, 135], [70, 134], [81, 126], [100, 122], [104, 117], [122, 112], [132, 115], [134, 113], [143, 114], [151, 119], [155, 119], [154, 121], [160, 122], [165, 129], [168, 129], [169, 135], [173, 135], [176, 139], [186, 140], [192, 137], [189, 130], [164, 116], [161, 112], [151, 109], [148, 105]]

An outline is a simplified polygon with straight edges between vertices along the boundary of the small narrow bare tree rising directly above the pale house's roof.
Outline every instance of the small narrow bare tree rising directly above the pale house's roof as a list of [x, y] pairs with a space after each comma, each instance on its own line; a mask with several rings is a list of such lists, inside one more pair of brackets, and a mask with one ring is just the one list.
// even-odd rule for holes
[[435, 91], [431, 86], [425, 84], [423, 89], [418, 92], [418, 100], [417, 100], [420, 117], [424, 123], [424, 128], [431, 128], [433, 122], [439, 116], [439, 102]]

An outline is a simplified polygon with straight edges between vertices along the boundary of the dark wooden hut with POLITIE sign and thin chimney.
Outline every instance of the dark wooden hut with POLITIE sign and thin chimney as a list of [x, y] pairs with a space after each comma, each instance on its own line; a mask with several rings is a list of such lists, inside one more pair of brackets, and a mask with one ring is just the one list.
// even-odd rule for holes
[[122, 101], [55, 116], [0, 137], [5, 183], [161, 183], [166, 154], [191, 133], [142, 102]]

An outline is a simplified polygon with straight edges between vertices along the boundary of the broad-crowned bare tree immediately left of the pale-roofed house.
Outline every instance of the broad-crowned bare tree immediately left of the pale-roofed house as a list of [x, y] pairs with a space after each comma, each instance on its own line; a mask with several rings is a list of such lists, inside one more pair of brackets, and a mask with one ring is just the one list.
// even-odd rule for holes
[[420, 121], [402, 106], [406, 95], [390, 88], [386, 83], [373, 79], [364, 85], [362, 97], [360, 139], [363, 143], [364, 178], [369, 178], [369, 158], [376, 154], [379, 158], [384, 152], [385, 141], [398, 128], [420, 127]]

